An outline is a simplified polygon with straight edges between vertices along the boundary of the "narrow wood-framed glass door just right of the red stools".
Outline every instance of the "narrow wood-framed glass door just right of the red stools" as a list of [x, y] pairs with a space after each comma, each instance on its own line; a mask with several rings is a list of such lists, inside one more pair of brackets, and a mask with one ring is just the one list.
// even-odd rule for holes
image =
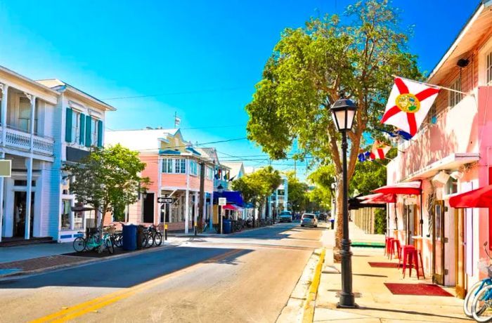
[[434, 202], [432, 230], [432, 281], [444, 285], [444, 201]]

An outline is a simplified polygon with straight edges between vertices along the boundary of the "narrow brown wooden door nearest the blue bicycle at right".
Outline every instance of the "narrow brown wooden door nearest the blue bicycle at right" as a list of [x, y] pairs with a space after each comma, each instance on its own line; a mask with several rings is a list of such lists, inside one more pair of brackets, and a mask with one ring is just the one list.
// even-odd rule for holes
[[465, 298], [465, 212], [455, 209], [455, 285], [456, 296]]

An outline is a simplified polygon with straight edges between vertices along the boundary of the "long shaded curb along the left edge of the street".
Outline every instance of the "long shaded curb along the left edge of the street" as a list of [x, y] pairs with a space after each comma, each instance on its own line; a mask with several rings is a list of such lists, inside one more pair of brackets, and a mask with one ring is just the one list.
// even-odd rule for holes
[[178, 246], [178, 245], [167, 244], [165, 246], [158, 246], [158, 247], [155, 247], [153, 249], [143, 249], [140, 251], [134, 251], [131, 253], [123, 253], [121, 255], [116, 255], [116, 256], [107, 256], [107, 257], [103, 257], [103, 258], [88, 258], [86, 261], [78, 261], [77, 263], [65, 263], [63, 265], [54, 265], [54, 266], [46, 267], [46, 268], [39, 268], [39, 269], [27, 270], [27, 271], [21, 271], [21, 272], [12, 272], [10, 274], [0, 275], [0, 281], [8, 280], [11, 278], [25, 278], [25, 277], [28, 277], [30, 275], [38, 275], [38, 274], [42, 274], [44, 272], [55, 272], [55, 271], [64, 270], [67, 268], [77, 268], [77, 267], [82, 267], [84, 265], [89, 265], [91, 263], [97, 263], [97, 262], [105, 263], [107, 261], [112, 261], [112, 260], [121, 259], [121, 258], [128, 258], [131, 256], [137, 256], [137, 255], [140, 255], [143, 253], [151, 253], [151, 252], [155, 252], [155, 251], [161, 251], [163, 249], [175, 248], [176, 246]]

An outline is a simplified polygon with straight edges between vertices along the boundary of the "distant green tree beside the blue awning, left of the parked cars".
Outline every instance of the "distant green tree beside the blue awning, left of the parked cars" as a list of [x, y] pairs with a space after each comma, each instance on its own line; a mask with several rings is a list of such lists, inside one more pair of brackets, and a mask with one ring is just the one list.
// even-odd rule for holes
[[[261, 211], [266, 203], [266, 199], [273, 194], [277, 187], [282, 183], [279, 171], [272, 166], [266, 166], [254, 173], [247, 174], [234, 180], [233, 190], [241, 192], [242, 199], [247, 203], [254, 204]], [[253, 226], [255, 219], [253, 217]]]

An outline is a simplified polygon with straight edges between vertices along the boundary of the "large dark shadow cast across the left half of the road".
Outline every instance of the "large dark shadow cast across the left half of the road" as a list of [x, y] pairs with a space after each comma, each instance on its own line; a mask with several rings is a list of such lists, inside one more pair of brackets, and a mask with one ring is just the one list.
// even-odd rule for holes
[[78, 268], [0, 281], [0, 291], [45, 286], [128, 288], [195, 264], [237, 265], [238, 258], [251, 251], [251, 249], [178, 246], [127, 258], [91, 263]]

